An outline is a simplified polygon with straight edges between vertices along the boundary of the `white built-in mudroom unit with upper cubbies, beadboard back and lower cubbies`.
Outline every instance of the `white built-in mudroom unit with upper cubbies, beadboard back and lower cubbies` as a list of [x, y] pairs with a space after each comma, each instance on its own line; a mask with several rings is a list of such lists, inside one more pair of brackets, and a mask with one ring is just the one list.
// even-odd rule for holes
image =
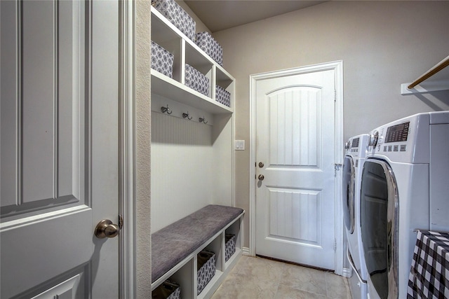
[[[154, 233], [208, 204], [234, 205], [235, 79], [154, 7], [151, 13], [152, 41], [173, 54], [172, 78], [151, 69]], [[207, 95], [185, 85], [185, 64], [209, 79]], [[217, 85], [229, 92], [230, 106], [215, 100]], [[210, 298], [242, 254], [242, 219], [243, 215], [236, 218], [156, 279], [152, 290], [169, 279], [180, 284], [183, 299]], [[226, 234], [235, 235], [236, 243], [229, 260]], [[203, 249], [215, 253], [216, 270], [197, 294], [197, 254]]]

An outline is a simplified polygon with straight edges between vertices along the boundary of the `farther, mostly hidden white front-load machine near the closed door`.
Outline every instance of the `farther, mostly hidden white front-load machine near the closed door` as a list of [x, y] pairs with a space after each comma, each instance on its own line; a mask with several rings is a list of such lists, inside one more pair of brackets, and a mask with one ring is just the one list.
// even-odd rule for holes
[[369, 137], [368, 134], [351, 137], [344, 146], [342, 200], [348, 239], [347, 258], [353, 270], [349, 285], [354, 299], [366, 299], [368, 292], [368, 272], [360, 233], [360, 184]]

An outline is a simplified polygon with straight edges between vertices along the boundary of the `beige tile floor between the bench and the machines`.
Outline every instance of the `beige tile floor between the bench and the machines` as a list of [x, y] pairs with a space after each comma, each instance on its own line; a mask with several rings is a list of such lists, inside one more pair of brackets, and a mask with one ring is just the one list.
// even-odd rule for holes
[[346, 278], [281, 263], [266, 258], [241, 256], [212, 299], [350, 299]]

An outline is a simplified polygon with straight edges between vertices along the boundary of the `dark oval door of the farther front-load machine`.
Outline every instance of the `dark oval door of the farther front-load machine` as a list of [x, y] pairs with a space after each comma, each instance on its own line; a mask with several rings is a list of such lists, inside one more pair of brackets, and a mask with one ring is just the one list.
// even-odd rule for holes
[[356, 183], [356, 172], [354, 168], [354, 160], [345, 156], [343, 162], [343, 214], [344, 224], [349, 233], [354, 232], [356, 222], [356, 214], [354, 211], [354, 188]]

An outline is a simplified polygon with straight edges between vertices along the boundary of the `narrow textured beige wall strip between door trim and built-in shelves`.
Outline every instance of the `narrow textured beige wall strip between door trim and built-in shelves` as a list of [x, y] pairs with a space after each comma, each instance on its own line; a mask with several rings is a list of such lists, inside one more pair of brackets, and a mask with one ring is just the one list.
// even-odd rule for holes
[[152, 292], [150, 3], [135, 1], [135, 298]]

